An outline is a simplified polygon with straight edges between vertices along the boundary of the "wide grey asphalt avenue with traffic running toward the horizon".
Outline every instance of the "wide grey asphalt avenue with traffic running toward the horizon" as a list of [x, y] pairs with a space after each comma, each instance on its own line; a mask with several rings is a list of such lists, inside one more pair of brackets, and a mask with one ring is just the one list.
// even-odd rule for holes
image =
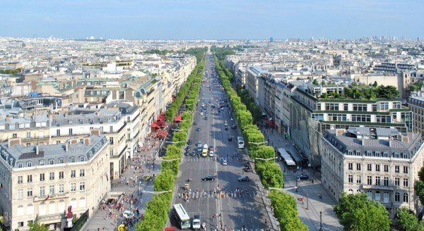
[[[234, 230], [241, 230], [242, 225], [245, 225], [248, 230], [260, 230], [265, 227], [267, 220], [264, 204], [259, 197], [254, 195], [257, 191], [255, 181], [259, 182], [259, 177], [254, 173], [243, 173], [242, 167], [245, 164], [244, 157], [246, 156], [244, 149], [237, 148], [237, 137], [241, 136], [240, 130], [232, 129], [231, 125], [237, 122], [231, 121], [232, 111], [230, 107], [225, 106], [230, 102], [224, 102], [223, 110], [216, 115], [211, 113], [211, 104], [218, 108], [218, 104], [227, 99], [223, 87], [218, 81], [218, 75], [215, 73], [215, 65], [211, 54], [208, 54], [206, 59], [206, 70], [208, 75], [204, 76], [199, 99], [199, 106], [196, 106], [194, 120], [197, 125], [192, 125], [189, 131], [189, 139], [192, 139], [192, 144], [189, 145], [192, 150], [197, 150], [197, 143], [201, 145], [208, 144], [213, 146], [217, 160], [213, 157], [183, 156], [183, 161], [180, 166], [180, 175], [175, 181], [175, 194], [172, 200], [173, 204], [181, 203], [186, 209], [189, 216], [201, 216], [201, 222], [206, 222], [206, 230], [215, 228], [230, 227]], [[210, 87], [210, 88], [209, 88]], [[216, 101], [218, 99], [218, 101]], [[209, 101], [211, 103], [209, 104]], [[208, 113], [207, 120], [205, 116], [200, 115], [202, 109], [201, 104], [208, 104], [206, 111]], [[225, 130], [225, 120], [228, 123], [228, 130]], [[200, 127], [200, 131], [196, 128]], [[228, 137], [232, 136], [232, 141], [228, 141]], [[184, 153], [184, 150], [183, 150]], [[222, 158], [228, 161], [228, 165], [224, 166]], [[216, 180], [202, 181], [201, 178], [206, 175], [217, 175]], [[247, 175], [250, 178], [249, 182], [239, 182], [238, 178]], [[189, 177], [192, 181], [189, 182], [189, 187], [192, 194], [199, 198], [193, 199], [193, 196], [187, 202], [179, 197], [179, 194], [184, 192], [184, 184], [187, 183]], [[213, 194], [209, 194], [210, 190], [221, 189], [230, 194], [235, 194], [238, 188], [243, 190], [241, 195], [228, 196], [225, 198], [216, 198]], [[247, 194], [247, 190], [249, 194]], [[196, 192], [199, 191], [199, 194]], [[206, 196], [204, 195], [205, 192]], [[203, 195], [202, 195], [203, 194]], [[218, 218], [213, 218], [218, 214]], [[269, 220], [268, 220], [269, 223]], [[168, 224], [169, 225], [169, 224]], [[170, 213], [170, 225], [179, 228], [175, 217]]]

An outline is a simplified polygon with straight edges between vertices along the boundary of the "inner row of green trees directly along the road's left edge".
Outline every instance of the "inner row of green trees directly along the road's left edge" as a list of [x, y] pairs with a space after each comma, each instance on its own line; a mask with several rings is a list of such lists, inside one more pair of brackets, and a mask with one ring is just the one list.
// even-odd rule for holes
[[[197, 97], [197, 94], [199, 94], [199, 87], [196, 87], [196, 83], [201, 81], [201, 73], [203, 73], [204, 65], [204, 61], [199, 62], [191, 74], [192, 80], [190, 83], [194, 82], [194, 84], [191, 89], [188, 85], [187, 91], [190, 89], [189, 96], [196, 95]], [[189, 80], [187, 80], [187, 83], [188, 82]], [[179, 95], [182, 96], [183, 102], [187, 92]], [[172, 105], [181, 106], [182, 102], [181, 104]], [[174, 118], [174, 116], [172, 116], [172, 118]], [[192, 118], [192, 113], [187, 111], [182, 113], [182, 122], [179, 124], [180, 131], [175, 132], [172, 136], [172, 142], [175, 142], [175, 144], [167, 146], [166, 156], [163, 156], [163, 161], [160, 164], [160, 173], [153, 180], [153, 188], [155, 189], [155, 192], [162, 193], [156, 194], [153, 196], [153, 199], [148, 202], [143, 220], [136, 224], [137, 231], [160, 231], [163, 230], [163, 227], [165, 227], [172, 200], [172, 191], [174, 189], [175, 179], [179, 172], [179, 163], [182, 158], [181, 148], [187, 140], [187, 130], [189, 130], [192, 125]]]

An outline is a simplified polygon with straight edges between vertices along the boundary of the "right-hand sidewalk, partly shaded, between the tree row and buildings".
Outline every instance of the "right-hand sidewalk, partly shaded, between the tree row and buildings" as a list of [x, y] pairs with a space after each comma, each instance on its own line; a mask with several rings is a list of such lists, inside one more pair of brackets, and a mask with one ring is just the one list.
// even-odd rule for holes
[[[284, 139], [283, 135], [279, 135], [275, 129], [261, 129], [265, 139], [269, 139], [269, 145], [274, 148], [283, 148], [296, 154], [292, 139]], [[310, 180], [302, 180], [298, 183], [298, 192], [295, 192], [296, 176], [300, 175], [301, 170], [288, 170], [283, 161], [278, 161], [278, 164], [283, 169], [284, 188], [286, 192], [294, 196], [296, 201], [300, 196], [307, 198], [307, 203], [301, 204], [298, 201], [298, 212], [300, 220], [309, 227], [309, 230], [319, 230], [320, 212], [322, 211], [322, 228], [323, 230], [343, 230], [343, 227], [338, 222], [336, 213], [333, 211], [333, 206], [337, 201], [326, 192], [321, 184], [321, 173], [314, 172], [312, 169], [304, 170], [310, 176]], [[312, 183], [312, 180], [314, 182]], [[322, 194], [322, 199], [319, 199], [319, 193]], [[308, 208], [308, 209], [306, 209]]]

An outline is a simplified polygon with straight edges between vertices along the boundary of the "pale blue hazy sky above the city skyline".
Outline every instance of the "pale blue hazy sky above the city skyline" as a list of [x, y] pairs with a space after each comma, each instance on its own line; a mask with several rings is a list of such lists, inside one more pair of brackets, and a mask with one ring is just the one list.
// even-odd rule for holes
[[424, 38], [424, 0], [0, 0], [0, 36]]

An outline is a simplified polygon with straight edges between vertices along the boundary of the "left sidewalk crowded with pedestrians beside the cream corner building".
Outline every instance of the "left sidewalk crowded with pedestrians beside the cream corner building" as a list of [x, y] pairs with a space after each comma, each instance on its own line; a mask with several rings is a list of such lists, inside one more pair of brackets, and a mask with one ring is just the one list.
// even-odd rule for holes
[[[152, 136], [153, 137], [153, 136]], [[95, 214], [89, 218], [87, 223], [81, 230], [116, 230], [119, 224], [122, 224], [126, 219], [123, 216], [124, 211], [134, 213], [134, 218], [130, 219], [131, 225], [128, 230], [135, 230], [134, 225], [141, 220], [146, 209], [148, 201], [153, 197], [151, 193], [142, 193], [142, 191], [153, 192], [153, 181], [142, 180], [144, 175], [158, 175], [160, 172], [160, 162], [153, 161], [155, 155], [160, 149], [158, 139], [148, 138], [143, 142], [141, 151], [137, 152], [131, 162], [122, 173], [119, 180], [112, 180], [112, 189], [108, 193], [110, 201], [112, 197], [119, 196], [117, 202], [112, 206], [105, 206], [95, 211]], [[113, 195], [113, 196], [112, 196]], [[108, 197], [108, 196], [105, 196]], [[105, 198], [107, 199], [107, 198]], [[108, 200], [109, 201], [109, 200]], [[107, 201], [105, 201], [107, 204]], [[120, 209], [115, 205], [119, 204]], [[139, 211], [137, 213], [137, 210]]]

